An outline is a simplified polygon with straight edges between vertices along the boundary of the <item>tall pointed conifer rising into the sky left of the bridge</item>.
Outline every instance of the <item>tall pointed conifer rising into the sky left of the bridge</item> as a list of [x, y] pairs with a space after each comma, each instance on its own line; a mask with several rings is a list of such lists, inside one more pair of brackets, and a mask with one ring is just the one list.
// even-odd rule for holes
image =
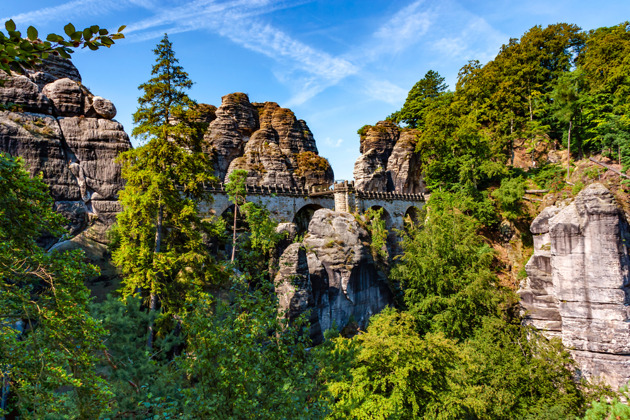
[[153, 52], [153, 77], [139, 86], [144, 94], [133, 115], [133, 135], [148, 142], [119, 159], [126, 186], [120, 193], [114, 261], [125, 276], [125, 295], [142, 292], [150, 311], [160, 301], [167, 312], [176, 312], [187, 293], [212, 276], [202, 240], [208, 223], [198, 209], [212, 175], [201, 148], [196, 104], [186, 94], [192, 82], [167, 35]]

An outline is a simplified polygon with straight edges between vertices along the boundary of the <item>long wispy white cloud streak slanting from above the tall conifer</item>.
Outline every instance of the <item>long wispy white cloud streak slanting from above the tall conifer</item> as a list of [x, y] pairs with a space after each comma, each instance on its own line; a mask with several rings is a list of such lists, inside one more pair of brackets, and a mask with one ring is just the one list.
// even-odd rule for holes
[[205, 29], [217, 33], [277, 61], [281, 69], [274, 74], [290, 86], [294, 95], [289, 104], [296, 105], [359, 70], [349, 60], [310, 46], [260, 19], [264, 14], [296, 4], [301, 3], [197, 0], [185, 6], [162, 10], [151, 18], [129, 25], [127, 34], [130, 41], [139, 41], [157, 38], [164, 32]]

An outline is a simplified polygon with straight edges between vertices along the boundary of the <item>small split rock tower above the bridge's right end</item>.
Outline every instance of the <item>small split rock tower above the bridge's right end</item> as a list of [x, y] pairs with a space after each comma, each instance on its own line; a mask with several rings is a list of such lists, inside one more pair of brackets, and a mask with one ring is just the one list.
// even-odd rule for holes
[[417, 130], [379, 121], [361, 130], [361, 156], [354, 164], [355, 187], [360, 191], [424, 192], [422, 167], [415, 154]]

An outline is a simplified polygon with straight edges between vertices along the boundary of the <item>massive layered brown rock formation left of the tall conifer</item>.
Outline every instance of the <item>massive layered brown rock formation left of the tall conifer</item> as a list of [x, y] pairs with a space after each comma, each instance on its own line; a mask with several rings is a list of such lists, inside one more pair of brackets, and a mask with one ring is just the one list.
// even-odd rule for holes
[[104, 240], [120, 210], [123, 187], [116, 156], [131, 147], [116, 108], [81, 85], [68, 60], [51, 59], [36, 71], [7, 77], [0, 87], [0, 150], [21, 156], [43, 175], [70, 234]]

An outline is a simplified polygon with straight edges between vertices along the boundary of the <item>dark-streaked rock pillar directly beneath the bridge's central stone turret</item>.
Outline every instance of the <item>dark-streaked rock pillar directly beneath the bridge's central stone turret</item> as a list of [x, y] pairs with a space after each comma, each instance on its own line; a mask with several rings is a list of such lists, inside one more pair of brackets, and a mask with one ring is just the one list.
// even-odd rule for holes
[[311, 310], [311, 338], [318, 343], [333, 326], [367, 325], [393, 302], [385, 276], [370, 253], [369, 236], [354, 216], [315, 212], [302, 243], [289, 245], [275, 278], [280, 309], [289, 319]]

